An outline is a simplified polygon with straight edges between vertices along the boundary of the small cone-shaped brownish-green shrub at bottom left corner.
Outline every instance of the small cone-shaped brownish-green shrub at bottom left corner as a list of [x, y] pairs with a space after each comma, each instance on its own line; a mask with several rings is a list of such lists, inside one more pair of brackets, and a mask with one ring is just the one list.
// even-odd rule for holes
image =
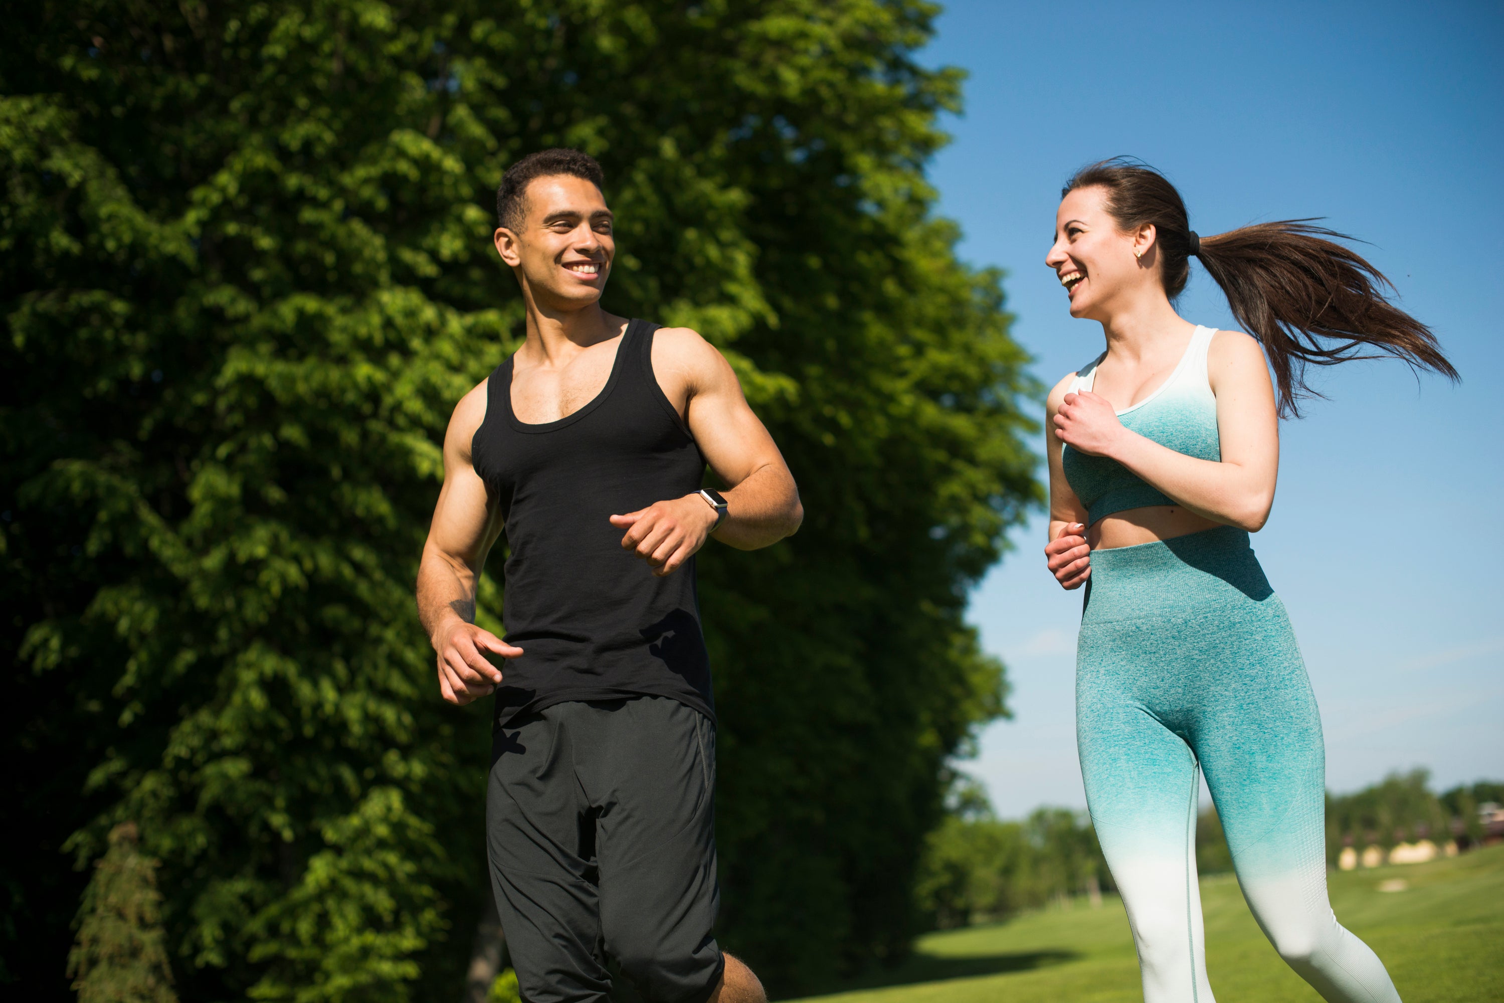
[[141, 856], [134, 823], [110, 830], [78, 911], [68, 955], [78, 1003], [177, 1003], [162, 944], [156, 862]]

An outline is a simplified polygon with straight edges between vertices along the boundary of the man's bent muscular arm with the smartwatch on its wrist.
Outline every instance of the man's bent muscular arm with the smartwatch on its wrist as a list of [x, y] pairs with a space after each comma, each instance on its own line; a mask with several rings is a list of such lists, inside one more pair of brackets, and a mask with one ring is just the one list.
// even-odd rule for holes
[[[693, 331], [659, 331], [672, 338], [666, 368], [686, 386], [687, 424], [710, 469], [728, 484], [726, 517], [699, 495], [666, 499], [639, 511], [612, 516], [626, 529], [621, 546], [651, 564], [654, 574], [672, 574], [705, 538], [714, 535], [738, 550], [757, 550], [793, 535], [805, 519], [794, 475], [758, 417], [726, 359]], [[654, 346], [654, 365], [657, 365]], [[714, 532], [711, 532], [714, 529]]]

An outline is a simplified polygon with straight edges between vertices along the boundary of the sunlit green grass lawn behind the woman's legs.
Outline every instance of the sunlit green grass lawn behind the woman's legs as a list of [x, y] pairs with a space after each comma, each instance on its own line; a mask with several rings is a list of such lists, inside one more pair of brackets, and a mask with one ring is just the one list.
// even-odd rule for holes
[[[1379, 892], [1403, 880], [1402, 892]], [[1263, 938], [1232, 875], [1202, 881], [1218, 1003], [1319, 1003]], [[1406, 1003], [1504, 1000], [1504, 847], [1331, 875], [1342, 923], [1388, 965]], [[1006, 923], [928, 934], [902, 967], [821, 1003], [1117, 1003], [1142, 1000], [1122, 904], [1084, 901]]]

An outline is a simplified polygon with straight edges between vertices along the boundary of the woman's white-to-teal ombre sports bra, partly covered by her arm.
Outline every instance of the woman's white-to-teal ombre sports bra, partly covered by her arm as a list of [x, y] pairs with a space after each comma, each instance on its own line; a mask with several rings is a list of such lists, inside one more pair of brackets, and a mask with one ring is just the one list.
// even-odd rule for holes
[[[1217, 438], [1217, 397], [1206, 377], [1206, 349], [1211, 347], [1214, 328], [1196, 328], [1191, 344], [1181, 356], [1181, 364], [1170, 373], [1160, 389], [1154, 391], [1133, 408], [1117, 412], [1125, 429], [1154, 439], [1176, 453], [1194, 456], [1199, 460], [1221, 462], [1221, 441]], [[1092, 389], [1096, 367], [1107, 356], [1096, 356], [1071, 380], [1066, 392]], [[1117, 460], [1104, 456], [1087, 456], [1071, 447], [1060, 453], [1065, 480], [1075, 496], [1086, 505], [1086, 523], [1092, 525], [1104, 516], [1125, 508], [1145, 505], [1176, 505], [1155, 487], [1131, 474]]]

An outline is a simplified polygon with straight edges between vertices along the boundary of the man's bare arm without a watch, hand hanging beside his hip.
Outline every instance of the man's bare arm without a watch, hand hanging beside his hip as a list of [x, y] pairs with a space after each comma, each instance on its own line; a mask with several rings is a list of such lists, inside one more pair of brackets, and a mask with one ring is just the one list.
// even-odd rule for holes
[[433, 510], [429, 540], [418, 565], [418, 618], [438, 654], [439, 693], [469, 704], [501, 683], [483, 651], [505, 659], [522, 654], [475, 626], [475, 589], [486, 552], [501, 534], [496, 505], [471, 465], [471, 439], [486, 418], [486, 383], [465, 394], [444, 436], [444, 487]]

